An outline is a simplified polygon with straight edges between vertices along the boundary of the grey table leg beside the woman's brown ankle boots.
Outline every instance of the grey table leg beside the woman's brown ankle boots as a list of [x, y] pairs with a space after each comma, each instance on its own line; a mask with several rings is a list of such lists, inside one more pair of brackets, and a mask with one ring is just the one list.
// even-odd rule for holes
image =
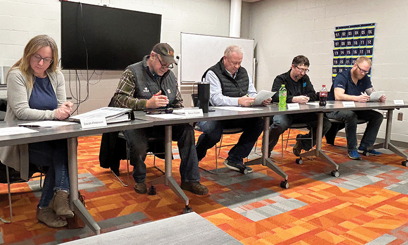
[[101, 233], [101, 228], [95, 222], [88, 210], [82, 205], [78, 199], [78, 140], [76, 137], [68, 138], [68, 171], [69, 171], [69, 203], [71, 210], [75, 215], [78, 215], [81, 220], [96, 234]]

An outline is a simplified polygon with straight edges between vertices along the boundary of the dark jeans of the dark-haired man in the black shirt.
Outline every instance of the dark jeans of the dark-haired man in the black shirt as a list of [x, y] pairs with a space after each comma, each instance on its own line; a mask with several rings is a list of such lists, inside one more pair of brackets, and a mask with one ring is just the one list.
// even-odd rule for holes
[[[271, 126], [269, 128], [269, 153], [273, 150], [276, 143], [279, 140], [279, 136], [285, 132], [292, 123], [306, 123], [308, 125], [309, 133], [303, 134], [302, 138], [310, 138], [310, 130], [313, 132], [313, 141], [310, 139], [301, 140], [302, 148], [306, 151], [310, 150], [316, 144], [317, 135], [317, 114], [316, 113], [300, 113], [290, 115], [275, 115], [271, 120]], [[327, 118], [323, 118], [323, 134], [330, 129], [332, 123]]]

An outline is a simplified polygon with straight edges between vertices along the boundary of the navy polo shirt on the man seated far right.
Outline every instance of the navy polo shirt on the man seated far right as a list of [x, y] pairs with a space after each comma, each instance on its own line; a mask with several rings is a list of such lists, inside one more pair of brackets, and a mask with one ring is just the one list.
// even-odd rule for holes
[[367, 74], [357, 81], [357, 85], [354, 84], [353, 80], [351, 79], [351, 69], [347, 69], [343, 71], [342, 73], [337, 74], [337, 76], [334, 78], [332, 87], [330, 89], [330, 93], [327, 96], [327, 100], [329, 101], [334, 101], [334, 89], [335, 88], [341, 88], [344, 89], [344, 93], [346, 95], [355, 95], [359, 96], [361, 93], [364, 93], [367, 89], [373, 87], [371, 84], [370, 78], [367, 76]]

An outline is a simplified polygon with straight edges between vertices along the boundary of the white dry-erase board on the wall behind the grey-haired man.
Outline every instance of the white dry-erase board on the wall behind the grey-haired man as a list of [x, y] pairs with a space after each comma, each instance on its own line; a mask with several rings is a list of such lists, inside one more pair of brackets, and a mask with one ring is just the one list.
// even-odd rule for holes
[[244, 67], [253, 78], [253, 39], [182, 32], [180, 44], [181, 84], [200, 82], [204, 72], [222, 58], [226, 47], [233, 44], [237, 44], [244, 49], [241, 66]]

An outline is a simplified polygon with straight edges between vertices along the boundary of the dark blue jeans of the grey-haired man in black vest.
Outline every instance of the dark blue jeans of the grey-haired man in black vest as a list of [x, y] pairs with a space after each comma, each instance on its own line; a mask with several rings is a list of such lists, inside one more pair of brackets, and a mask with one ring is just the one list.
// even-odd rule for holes
[[222, 136], [224, 128], [243, 128], [238, 142], [228, 152], [227, 160], [232, 163], [243, 163], [252, 150], [256, 140], [263, 131], [262, 118], [248, 118], [238, 120], [206, 121], [200, 122], [203, 133], [197, 140], [196, 150], [199, 161], [204, 158], [207, 150], [212, 148]]

